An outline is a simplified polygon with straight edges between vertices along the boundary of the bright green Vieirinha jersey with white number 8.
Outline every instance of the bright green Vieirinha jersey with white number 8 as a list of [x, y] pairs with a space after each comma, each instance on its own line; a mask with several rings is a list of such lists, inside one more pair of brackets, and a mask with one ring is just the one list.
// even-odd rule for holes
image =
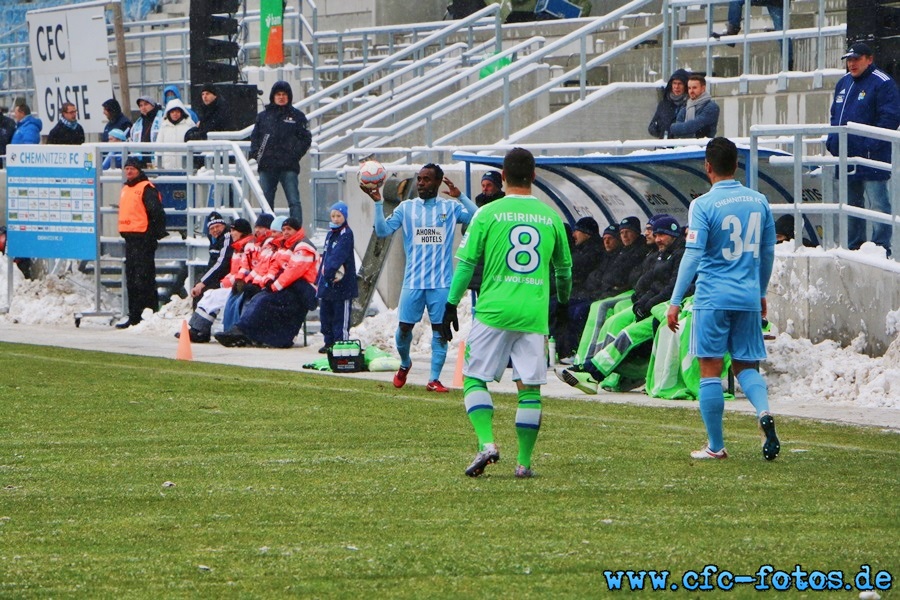
[[568, 272], [572, 255], [560, 216], [534, 196], [506, 196], [481, 207], [456, 251], [484, 257], [475, 318], [498, 329], [547, 334], [551, 265]]

